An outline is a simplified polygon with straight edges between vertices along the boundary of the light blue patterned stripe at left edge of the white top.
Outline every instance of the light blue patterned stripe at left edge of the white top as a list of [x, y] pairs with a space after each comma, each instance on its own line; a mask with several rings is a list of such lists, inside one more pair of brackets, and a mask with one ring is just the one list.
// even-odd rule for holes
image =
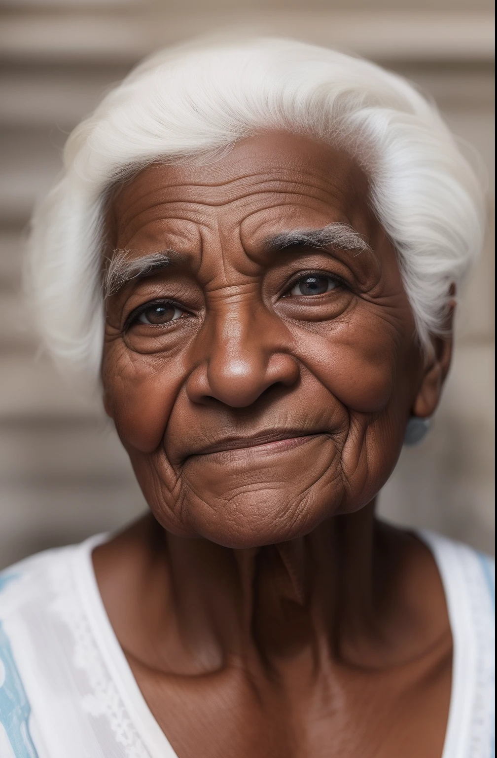
[[[15, 575], [0, 576], [0, 592], [14, 578]], [[0, 622], [0, 723], [16, 758], [38, 758], [28, 726], [30, 713], [11, 644]]]

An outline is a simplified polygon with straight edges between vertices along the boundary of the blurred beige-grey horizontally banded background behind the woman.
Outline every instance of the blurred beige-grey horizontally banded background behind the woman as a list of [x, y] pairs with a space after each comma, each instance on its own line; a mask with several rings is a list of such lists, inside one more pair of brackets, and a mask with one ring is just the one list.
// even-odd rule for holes
[[98, 402], [39, 356], [20, 296], [22, 234], [67, 133], [152, 50], [233, 27], [355, 52], [436, 100], [489, 175], [486, 246], [461, 296], [455, 358], [427, 439], [380, 496], [393, 522], [493, 552], [492, 0], [0, 0], [0, 568], [145, 508]]

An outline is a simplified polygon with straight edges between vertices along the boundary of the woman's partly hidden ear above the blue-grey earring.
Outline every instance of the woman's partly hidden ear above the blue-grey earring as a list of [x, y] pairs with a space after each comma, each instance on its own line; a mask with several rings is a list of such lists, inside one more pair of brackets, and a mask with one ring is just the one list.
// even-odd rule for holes
[[[455, 295], [455, 286], [452, 285], [450, 294]], [[449, 313], [444, 324], [445, 334], [443, 337], [433, 337], [433, 353], [425, 362], [423, 377], [417, 396], [412, 406], [412, 415], [418, 418], [428, 418], [433, 415], [442, 394], [442, 387], [449, 374], [452, 360], [452, 322], [454, 320], [455, 299], [449, 304]]]

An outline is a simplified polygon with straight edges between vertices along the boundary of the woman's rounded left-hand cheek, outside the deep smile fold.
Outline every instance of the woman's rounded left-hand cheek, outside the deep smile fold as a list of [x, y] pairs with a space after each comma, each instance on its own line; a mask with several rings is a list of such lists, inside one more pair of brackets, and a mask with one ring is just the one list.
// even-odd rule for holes
[[105, 355], [102, 378], [105, 404], [123, 445], [153, 453], [184, 381], [180, 361], [143, 356], [120, 346]]

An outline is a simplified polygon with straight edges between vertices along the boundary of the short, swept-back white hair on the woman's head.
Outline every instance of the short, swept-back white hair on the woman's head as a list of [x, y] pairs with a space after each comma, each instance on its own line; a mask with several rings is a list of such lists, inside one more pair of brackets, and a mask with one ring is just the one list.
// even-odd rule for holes
[[152, 161], [213, 160], [237, 139], [288, 130], [346, 146], [395, 246], [421, 346], [442, 334], [480, 252], [480, 182], [436, 106], [368, 61], [286, 39], [158, 52], [67, 139], [64, 173], [33, 215], [28, 282], [61, 368], [98, 383], [105, 324], [102, 251], [111, 188]]

